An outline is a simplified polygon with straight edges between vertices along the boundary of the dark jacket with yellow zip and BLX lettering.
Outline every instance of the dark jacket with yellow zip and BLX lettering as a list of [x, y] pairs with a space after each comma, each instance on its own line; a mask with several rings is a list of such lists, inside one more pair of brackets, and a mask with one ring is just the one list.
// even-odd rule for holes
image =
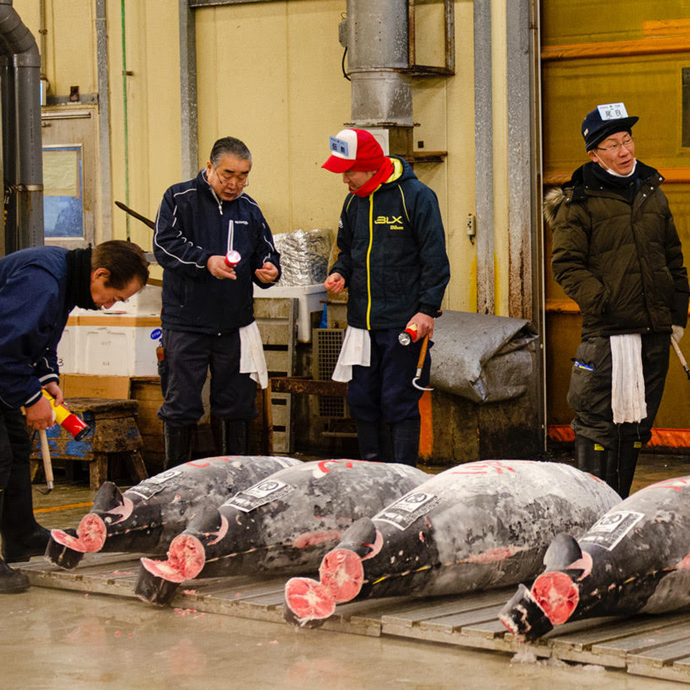
[[345, 279], [355, 328], [402, 330], [417, 312], [435, 317], [451, 276], [435, 193], [402, 158], [391, 161], [391, 177], [368, 197], [348, 194], [340, 214], [330, 273]]

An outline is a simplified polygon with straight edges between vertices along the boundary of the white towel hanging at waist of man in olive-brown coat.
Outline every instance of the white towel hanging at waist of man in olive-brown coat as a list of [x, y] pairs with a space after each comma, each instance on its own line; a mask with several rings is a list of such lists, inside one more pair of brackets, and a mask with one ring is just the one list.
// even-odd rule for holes
[[612, 335], [611, 410], [613, 424], [640, 422], [647, 417], [642, 373], [642, 337], [639, 333]]

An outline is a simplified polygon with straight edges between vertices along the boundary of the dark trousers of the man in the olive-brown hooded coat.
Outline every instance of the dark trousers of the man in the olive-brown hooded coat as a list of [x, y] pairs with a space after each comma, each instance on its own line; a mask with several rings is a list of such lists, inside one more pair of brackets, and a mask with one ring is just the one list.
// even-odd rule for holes
[[642, 373], [647, 417], [641, 422], [613, 424], [611, 343], [608, 337], [583, 340], [575, 353], [568, 391], [568, 404], [575, 412], [575, 419], [570, 424], [575, 435], [589, 438], [613, 451], [618, 449], [619, 443], [641, 441], [643, 445], [646, 444], [651, 438], [651, 426], [664, 393], [670, 344], [669, 333], [642, 335]]

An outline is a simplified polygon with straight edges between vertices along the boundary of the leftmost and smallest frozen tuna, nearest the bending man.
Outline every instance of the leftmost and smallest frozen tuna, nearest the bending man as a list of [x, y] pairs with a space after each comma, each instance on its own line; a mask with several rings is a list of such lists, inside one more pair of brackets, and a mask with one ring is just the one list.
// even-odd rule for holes
[[76, 530], [51, 531], [46, 557], [71, 569], [84, 553], [165, 553], [201, 506], [219, 506], [237, 491], [295, 464], [300, 461], [291, 457], [206, 457], [148, 477], [124, 493], [104, 482]]

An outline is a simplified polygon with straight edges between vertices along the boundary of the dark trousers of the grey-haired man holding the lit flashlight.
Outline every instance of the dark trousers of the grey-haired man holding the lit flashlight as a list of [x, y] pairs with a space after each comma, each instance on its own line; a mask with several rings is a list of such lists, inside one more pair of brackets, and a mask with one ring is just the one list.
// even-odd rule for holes
[[239, 373], [239, 331], [206, 335], [164, 328], [159, 362], [164, 403], [158, 416], [171, 426], [196, 424], [204, 414], [201, 389], [210, 370], [210, 413], [221, 420], [253, 420], [257, 384]]

